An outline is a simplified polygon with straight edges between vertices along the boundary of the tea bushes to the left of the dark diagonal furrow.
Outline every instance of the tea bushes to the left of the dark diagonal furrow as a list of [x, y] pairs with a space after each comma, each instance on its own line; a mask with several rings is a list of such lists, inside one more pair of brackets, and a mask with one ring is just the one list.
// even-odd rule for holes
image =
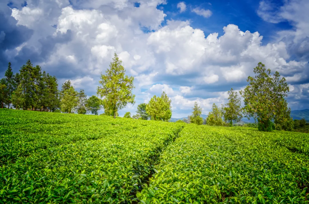
[[[0, 110], [0, 203], [131, 203], [183, 124]], [[36, 185], [35, 185], [36, 184]]]

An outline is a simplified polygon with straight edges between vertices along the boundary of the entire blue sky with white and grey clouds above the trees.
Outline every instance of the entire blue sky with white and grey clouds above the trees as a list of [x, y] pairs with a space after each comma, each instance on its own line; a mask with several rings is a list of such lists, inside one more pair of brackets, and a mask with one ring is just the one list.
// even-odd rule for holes
[[[134, 76], [134, 105], [165, 91], [172, 117], [242, 90], [258, 62], [286, 78], [292, 110], [309, 108], [308, 0], [1, 0], [0, 78], [28, 59], [96, 94], [114, 52]], [[101, 111], [103, 112], [103, 111]]]

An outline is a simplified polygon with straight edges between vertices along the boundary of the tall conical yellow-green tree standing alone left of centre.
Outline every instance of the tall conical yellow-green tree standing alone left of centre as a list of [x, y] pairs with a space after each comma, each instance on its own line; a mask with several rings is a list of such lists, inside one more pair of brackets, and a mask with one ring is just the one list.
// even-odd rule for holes
[[116, 53], [105, 73], [105, 75], [101, 74], [99, 83], [102, 86], [97, 88], [97, 94], [104, 98], [104, 110], [112, 110], [116, 118], [118, 110], [128, 103], [135, 103], [135, 95], [132, 93], [135, 88], [133, 86], [134, 77], [125, 75], [125, 68]]

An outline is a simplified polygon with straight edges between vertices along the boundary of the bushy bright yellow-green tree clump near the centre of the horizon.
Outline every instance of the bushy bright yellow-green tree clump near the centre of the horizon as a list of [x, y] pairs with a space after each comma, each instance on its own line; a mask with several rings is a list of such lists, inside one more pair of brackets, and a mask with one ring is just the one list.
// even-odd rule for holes
[[153, 96], [146, 105], [146, 113], [151, 116], [151, 120], [168, 121], [171, 119], [171, 100], [163, 91], [161, 97]]

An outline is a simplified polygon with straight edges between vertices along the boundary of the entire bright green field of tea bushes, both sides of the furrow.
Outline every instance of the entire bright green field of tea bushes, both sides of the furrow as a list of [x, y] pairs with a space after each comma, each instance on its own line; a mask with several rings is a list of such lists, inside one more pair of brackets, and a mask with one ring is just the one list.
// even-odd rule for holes
[[307, 203], [309, 134], [0, 109], [1, 203]]

